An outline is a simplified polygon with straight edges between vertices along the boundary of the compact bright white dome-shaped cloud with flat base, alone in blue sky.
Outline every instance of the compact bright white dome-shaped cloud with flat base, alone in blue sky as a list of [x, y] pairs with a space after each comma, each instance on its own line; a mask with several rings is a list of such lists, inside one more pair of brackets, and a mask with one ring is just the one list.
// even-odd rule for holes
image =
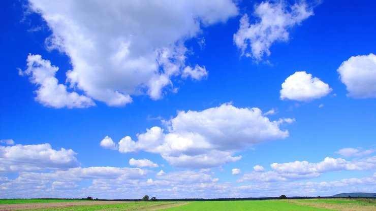
[[280, 92], [281, 99], [298, 101], [309, 101], [326, 96], [332, 91], [328, 84], [320, 81], [311, 74], [295, 72], [282, 84]]

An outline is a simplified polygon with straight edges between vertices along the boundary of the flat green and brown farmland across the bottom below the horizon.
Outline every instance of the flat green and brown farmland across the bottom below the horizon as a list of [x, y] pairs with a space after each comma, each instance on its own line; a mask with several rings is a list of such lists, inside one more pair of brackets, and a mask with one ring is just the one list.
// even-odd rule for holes
[[113, 210], [113, 211], [373, 211], [375, 199], [291, 199], [243, 201], [75, 201], [75, 200], [0, 200], [0, 210]]

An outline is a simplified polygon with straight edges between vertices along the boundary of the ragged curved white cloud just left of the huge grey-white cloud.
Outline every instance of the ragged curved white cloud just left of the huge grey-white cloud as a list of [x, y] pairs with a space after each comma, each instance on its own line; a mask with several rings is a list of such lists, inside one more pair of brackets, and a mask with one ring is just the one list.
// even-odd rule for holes
[[51, 65], [49, 60], [42, 59], [41, 55], [27, 56], [27, 69], [20, 75], [30, 76], [30, 81], [37, 84], [38, 90], [37, 101], [45, 106], [53, 108], [87, 108], [95, 105], [95, 103], [84, 95], [77, 92], [68, 92], [67, 86], [58, 84], [55, 74], [58, 67]]

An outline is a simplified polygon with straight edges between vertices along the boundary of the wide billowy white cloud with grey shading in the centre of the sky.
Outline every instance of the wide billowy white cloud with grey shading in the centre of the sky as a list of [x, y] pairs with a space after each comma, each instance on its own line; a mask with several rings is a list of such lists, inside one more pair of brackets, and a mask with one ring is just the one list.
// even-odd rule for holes
[[292, 119], [270, 121], [258, 108], [236, 108], [231, 104], [203, 111], [180, 111], [165, 121], [168, 131], [152, 127], [137, 134], [137, 142], [130, 136], [119, 142], [119, 152], [140, 150], [160, 154], [176, 167], [209, 168], [235, 162], [235, 153], [250, 146], [273, 139], [288, 137], [281, 130]]

